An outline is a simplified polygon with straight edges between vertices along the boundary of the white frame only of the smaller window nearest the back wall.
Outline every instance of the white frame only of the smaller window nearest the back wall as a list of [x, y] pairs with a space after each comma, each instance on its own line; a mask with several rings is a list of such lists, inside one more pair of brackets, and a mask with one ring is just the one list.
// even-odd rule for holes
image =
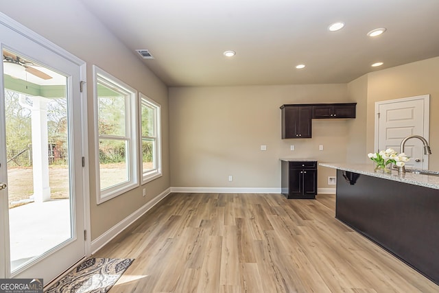
[[[151, 108], [154, 108], [155, 110], [155, 119], [154, 119], [154, 132], [155, 137], [144, 137], [143, 131], [142, 131], [142, 105], [150, 106]], [[161, 104], [158, 104], [150, 97], [147, 97], [147, 95], [144, 95], [143, 93], [139, 93], [139, 133], [140, 133], [140, 139], [139, 139], [139, 151], [140, 151], [140, 169], [141, 169], [141, 179], [142, 179], [142, 185], [145, 183], [148, 183], [156, 178], [160, 178], [163, 176], [162, 172], [162, 146], [161, 146]], [[154, 139], [155, 141], [155, 154], [153, 161], [155, 163], [155, 168], [150, 169], [145, 172], [143, 170], [143, 148], [142, 143], [144, 139]]]

